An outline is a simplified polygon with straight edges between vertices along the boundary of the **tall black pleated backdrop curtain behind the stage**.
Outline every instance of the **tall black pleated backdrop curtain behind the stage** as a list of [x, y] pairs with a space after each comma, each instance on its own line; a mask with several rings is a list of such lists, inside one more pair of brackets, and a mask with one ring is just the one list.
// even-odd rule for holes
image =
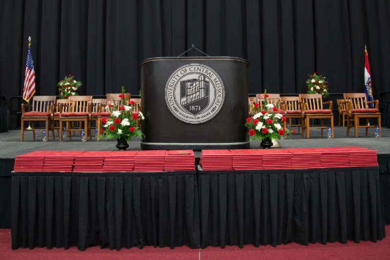
[[[367, 43], [374, 94], [390, 83], [388, 0], [13, 0], [0, 4], [0, 95], [22, 94], [32, 37], [36, 95], [72, 74], [81, 95], [137, 95], [139, 62], [195, 43], [251, 62], [249, 93], [304, 93], [316, 71], [331, 93], [363, 92]], [[189, 56], [201, 55], [191, 51]]]

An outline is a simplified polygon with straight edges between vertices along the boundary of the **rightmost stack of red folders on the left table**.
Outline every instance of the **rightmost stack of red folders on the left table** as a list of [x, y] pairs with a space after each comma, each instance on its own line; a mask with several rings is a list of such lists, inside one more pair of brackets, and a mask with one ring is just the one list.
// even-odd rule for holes
[[165, 152], [166, 172], [194, 171], [195, 154], [193, 150], [172, 150]]

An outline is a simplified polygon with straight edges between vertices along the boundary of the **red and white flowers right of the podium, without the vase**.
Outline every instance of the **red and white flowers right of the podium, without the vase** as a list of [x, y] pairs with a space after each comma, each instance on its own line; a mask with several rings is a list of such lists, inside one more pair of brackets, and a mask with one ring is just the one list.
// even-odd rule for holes
[[282, 124], [286, 118], [277, 113], [277, 108], [267, 102], [267, 90], [264, 91], [263, 110], [260, 110], [260, 104], [255, 103], [253, 106], [253, 118], [247, 118], [245, 126], [249, 129], [248, 135], [251, 140], [264, 140], [270, 138], [278, 140], [285, 134], [294, 134], [294, 130], [285, 129]]

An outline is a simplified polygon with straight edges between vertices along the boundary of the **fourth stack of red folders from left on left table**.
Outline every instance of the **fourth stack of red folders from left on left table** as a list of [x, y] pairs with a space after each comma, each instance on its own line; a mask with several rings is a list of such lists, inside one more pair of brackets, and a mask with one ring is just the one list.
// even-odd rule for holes
[[104, 156], [103, 172], [132, 172], [138, 151], [112, 151]]

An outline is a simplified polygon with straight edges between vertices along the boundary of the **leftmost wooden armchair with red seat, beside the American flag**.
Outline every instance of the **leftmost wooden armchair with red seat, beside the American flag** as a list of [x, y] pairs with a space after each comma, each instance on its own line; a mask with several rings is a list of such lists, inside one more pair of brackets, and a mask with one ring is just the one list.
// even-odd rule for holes
[[[53, 115], [52, 115], [52, 104], [56, 101], [56, 96], [34, 96], [32, 105], [21, 104], [21, 118], [20, 118], [20, 140], [24, 139], [24, 130], [33, 131], [33, 139], [35, 140], [34, 121], [44, 121], [45, 131], [47, 137], [49, 137], [49, 123], [51, 123], [52, 136], [54, 140], [53, 130]], [[26, 111], [26, 107], [29, 108]], [[25, 121], [32, 121], [32, 128], [24, 128]], [[46, 140], [49, 140], [47, 138]]]

